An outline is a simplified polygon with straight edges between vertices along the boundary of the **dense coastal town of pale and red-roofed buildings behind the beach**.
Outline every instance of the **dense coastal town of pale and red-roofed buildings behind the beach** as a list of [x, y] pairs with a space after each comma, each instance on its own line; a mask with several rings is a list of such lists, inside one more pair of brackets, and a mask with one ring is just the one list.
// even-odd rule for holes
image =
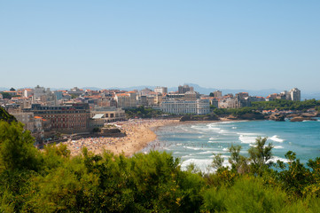
[[37, 85], [35, 88], [0, 91], [0, 106], [25, 124], [38, 144], [57, 133], [92, 132], [110, 122], [125, 121], [126, 110], [144, 106], [163, 112], [162, 116], [182, 114], [209, 114], [211, 108], [241, 108], [256, 101], [286, 99], [300, 101], [300, 90], [293, 88], [268, 97], [250, 96], [247, 92], [235, 95], [222, 91], [199, 94], [184, 84], [177, 91], [167, 87], [145, 88], [141, 91], [70, 90], [51, 91]]

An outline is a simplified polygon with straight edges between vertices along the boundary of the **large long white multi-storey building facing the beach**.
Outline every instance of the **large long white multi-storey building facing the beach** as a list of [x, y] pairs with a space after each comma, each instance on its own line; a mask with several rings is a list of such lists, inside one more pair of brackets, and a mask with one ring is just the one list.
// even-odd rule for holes
[[160, 109], [170, 114], [209, 114], [210, 102], [208, 99], [197, 100], [162, 100]]

